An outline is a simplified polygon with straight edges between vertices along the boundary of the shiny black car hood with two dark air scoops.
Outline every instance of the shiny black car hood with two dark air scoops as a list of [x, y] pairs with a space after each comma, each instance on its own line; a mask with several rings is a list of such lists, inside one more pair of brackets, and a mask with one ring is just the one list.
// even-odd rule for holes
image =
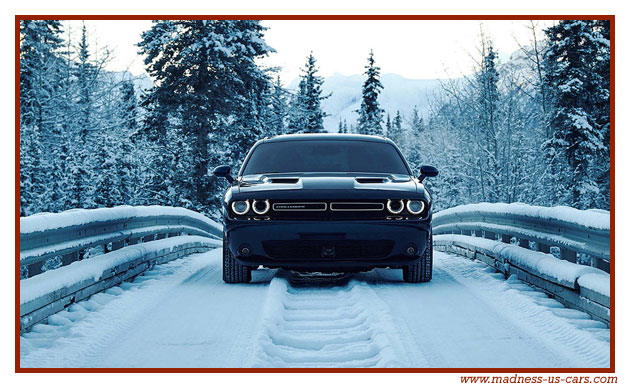
[[265, 174], [246, 175], [238, 180], [239, 193], [278, 190], [361, 190], [416, 192], [409, 175], [398, 174]]

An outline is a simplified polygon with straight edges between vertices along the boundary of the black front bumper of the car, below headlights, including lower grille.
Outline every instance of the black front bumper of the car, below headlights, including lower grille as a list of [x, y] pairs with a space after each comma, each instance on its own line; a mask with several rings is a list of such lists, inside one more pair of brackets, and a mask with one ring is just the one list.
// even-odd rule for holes
[[360, 271], [413, 264], [426, 249], [429, 229], [428, 220], [226, 220], [224, 230], [243, 265]]

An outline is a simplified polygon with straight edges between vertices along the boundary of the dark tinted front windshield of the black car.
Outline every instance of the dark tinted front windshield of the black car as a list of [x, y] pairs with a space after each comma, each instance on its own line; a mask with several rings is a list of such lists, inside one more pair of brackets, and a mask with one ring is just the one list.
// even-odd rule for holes
[[262, 143], [243, 169], [243, 175], [297, 172], [409, 174], [392, 144], [360, 140]]

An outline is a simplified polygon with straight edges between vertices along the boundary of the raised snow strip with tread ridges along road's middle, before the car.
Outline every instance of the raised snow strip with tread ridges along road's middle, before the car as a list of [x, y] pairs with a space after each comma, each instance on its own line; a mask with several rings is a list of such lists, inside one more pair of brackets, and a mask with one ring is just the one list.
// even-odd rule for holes
[[409, 355], [387, 305], [357, 280], [293, 286], [275, 277], [252, 367], [402, 367]]

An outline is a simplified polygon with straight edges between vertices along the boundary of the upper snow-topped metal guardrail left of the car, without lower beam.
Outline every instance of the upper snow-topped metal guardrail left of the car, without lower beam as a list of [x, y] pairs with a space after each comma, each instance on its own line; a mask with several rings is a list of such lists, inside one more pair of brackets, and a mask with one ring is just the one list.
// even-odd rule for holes
[[221, 226], [192, 210], [166, 206], [73, 209], [20, 218], [21, 277], [91, 254], [182, 234], [216, 238]]

